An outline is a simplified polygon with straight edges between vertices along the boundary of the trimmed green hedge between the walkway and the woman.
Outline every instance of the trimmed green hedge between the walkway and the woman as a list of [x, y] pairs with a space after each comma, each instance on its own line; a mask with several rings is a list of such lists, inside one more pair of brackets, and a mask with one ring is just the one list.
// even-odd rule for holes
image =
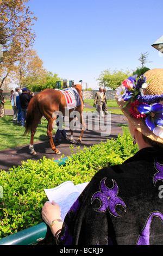
[[129, 135], [108, 139], [84, 150], [77, 149], [77, 154], [68, 157], [65, 166], [44, 157], [40, 161], [22, 162], [10, 172], [1, 170], [1, 238], [42, 222], [42, 206], [47, 200], [44, 188], [58, 186], [67, 180], [72, 180], [74, 184], [90, 181], [102, 167], [121, 164], [137, 151]]

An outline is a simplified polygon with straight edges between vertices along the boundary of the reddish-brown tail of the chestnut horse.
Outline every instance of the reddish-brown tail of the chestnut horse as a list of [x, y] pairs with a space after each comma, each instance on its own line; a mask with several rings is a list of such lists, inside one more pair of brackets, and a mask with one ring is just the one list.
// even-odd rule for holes
[[24, 136], [29, 133], [31, 130], [34, 121], [36, 120], [37, 114], [40, 114], [39, 104], [38, 104], [39, 96], [36, 94], [32, 97], [29, 101], [29, 105], [27, 108], [27, 115], [26, 115], [26, 124], [25, 124], [25, 132]]

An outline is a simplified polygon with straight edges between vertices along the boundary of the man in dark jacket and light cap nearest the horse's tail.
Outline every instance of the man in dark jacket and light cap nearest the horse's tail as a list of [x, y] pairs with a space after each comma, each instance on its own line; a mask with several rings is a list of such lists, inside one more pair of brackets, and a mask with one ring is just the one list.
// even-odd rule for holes
[[27, 88], [22, 89], [22, 94], [20, 95], [20, 103], [21, 103], [21, 126], [25, 126], [26, 114], [29, 101], [34, 96], [34, 93], [30, 93]]

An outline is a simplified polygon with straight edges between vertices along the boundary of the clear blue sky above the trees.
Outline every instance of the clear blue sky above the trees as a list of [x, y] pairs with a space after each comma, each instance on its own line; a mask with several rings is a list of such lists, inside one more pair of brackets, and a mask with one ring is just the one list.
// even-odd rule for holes
[[[106, 69], [163, 68], [163, 54], [151, 45], [163, 34], [162, 0], [30, 0], [37, 21], [34, 49], [44, 68], [62, 79], [96, 81]], [[86, 88], [86, 84], [83, 84]]]

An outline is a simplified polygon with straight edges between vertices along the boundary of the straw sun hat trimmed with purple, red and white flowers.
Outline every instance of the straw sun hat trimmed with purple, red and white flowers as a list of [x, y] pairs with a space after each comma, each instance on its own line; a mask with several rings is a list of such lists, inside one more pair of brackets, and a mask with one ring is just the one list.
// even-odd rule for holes
[[129, 77], [116, 89], [115, 96], [130, 123], [152, 141], [163, 144], [163, 69]]

